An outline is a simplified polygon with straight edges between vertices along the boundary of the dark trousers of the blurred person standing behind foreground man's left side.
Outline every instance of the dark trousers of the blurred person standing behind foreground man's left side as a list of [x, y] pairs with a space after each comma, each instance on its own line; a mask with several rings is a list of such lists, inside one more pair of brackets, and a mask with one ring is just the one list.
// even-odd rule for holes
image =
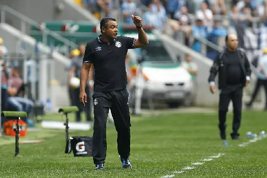
[[76, 112], [76, 121], [80, 122], [81, 121], [81, 112], [85, 111], [86, 112], [86, 120], [87, 121], [92, 121], [91, 118], [91, 102], [90, 102], [90, 91], [88, 85], [85, 87], [85, 93], [87, 94], [87, 103], [85, 103], [85, 107], [82, 106], [79, 100], [79, 95], [80, 95], [80, 88], [75, 88], [73, 89], [73, 104], [79, 108], [79, 111]]

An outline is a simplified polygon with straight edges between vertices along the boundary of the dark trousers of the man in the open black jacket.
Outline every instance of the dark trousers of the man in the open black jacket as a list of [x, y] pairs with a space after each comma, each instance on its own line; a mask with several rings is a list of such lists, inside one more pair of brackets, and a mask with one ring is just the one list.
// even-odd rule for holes
[[239, 136], [238, 130], [241, 124], [241, 113], [242, 113], [242, 97], [243, 97], [243, 87], [238, 86], [232, 90], [225, 89], [220, 91], [220, 101], [219, 101], [219, 129], [221, 131], [221, 138], [225, 139], [225, 129], [226, 129], [226, 113], [228, 111], [228, 106], [230, 100], [233, 103], [233, 124], [231, 137], [234, 138]]

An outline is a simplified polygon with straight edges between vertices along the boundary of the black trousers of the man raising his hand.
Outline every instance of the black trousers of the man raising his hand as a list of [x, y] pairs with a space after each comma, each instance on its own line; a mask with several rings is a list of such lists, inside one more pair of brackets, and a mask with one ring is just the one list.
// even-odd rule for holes
[[129, 94], [126, 89], [111, 92], [94, 92], [94, 164], [105, 163], [107, 151], [106, 123], [109, 108], [117, 131], [118, 154], [125, 159], [130, 156], [131, 124], [128, 97]]

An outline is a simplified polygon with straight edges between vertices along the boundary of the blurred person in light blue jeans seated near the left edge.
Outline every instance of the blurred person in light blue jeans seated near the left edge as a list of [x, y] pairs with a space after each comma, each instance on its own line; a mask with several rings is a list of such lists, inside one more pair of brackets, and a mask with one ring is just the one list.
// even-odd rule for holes
[[20, 78], [20, 70], [18, 67], [13, 69], [12, 76], [8, 80], [8, 99], [7, 107], [8, 109], [14, 108], [16, 111], [25, 111], [27, 113], [26, 121], [28, 120], [28, 115], [31, 112], [34, 102], [25, 98], [25, 85], [23, 80]]

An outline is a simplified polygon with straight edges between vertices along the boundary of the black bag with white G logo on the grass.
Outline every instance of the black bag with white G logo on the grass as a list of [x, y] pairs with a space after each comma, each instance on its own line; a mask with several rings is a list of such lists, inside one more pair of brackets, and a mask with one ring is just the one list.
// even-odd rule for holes
[[67, 141], [65, 153], [73, 151], [74, 157], [92, 157], [93, 136], [73, 136]]

